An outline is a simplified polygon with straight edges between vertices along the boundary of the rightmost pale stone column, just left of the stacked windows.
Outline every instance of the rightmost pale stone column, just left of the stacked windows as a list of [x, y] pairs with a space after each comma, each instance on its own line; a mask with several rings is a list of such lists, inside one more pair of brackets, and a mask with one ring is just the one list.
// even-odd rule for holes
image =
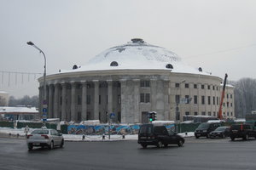
[[140, 104], [140, 80], [133, 79], [134, 84], [134, 122], [139, 123], [141, 122], [141, 112], [139, 108]]

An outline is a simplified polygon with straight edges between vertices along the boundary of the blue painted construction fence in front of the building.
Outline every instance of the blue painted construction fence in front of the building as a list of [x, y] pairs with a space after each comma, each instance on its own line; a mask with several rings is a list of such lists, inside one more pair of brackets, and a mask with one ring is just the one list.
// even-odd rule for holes
[[[166, 128], [175, 130], [174, 124], [165, 125]], [[99, 134], [137, 134], [140, 125], [69, 125], [67, 127], [68, 134], [85, 134], [85, 135], [99, 135]]]

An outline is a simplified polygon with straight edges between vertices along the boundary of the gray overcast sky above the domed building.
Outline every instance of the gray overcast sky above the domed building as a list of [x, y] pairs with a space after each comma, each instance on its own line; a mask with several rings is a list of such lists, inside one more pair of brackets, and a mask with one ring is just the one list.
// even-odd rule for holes
[[[256, 78], [255, 17], [254, 0], [1, 0], [0, 71], [44, 72], [43, 55], [28, 41], [54, 73], [141, 37], [218, 77]], [[0, 91], [38, 94], [33, 76], [10, 77], [0, 74]]]

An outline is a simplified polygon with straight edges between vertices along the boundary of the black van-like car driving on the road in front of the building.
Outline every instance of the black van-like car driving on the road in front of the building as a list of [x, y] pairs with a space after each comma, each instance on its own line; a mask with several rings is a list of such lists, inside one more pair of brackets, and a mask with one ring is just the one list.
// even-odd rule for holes
[[156, 145], [157, 147], [166, 147], [168, 144], [177, 144], [183, 146], [185, 139], [182, 136], [174, 133], [172, 130], [167, 130], [165, 126], [154, 124], [143, 124], [138, 133], [138, 144], [143, 148], [148, 145]]

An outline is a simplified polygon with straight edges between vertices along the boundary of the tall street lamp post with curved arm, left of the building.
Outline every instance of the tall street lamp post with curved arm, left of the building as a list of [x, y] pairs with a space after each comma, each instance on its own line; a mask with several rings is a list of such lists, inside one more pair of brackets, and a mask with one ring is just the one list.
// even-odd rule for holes
[[27, 45], [31, 45], [34, 48], [37, 48], [40, 53], [44, 55], [44, 92], [43, 92], [43, 126], [45, 126], [45, 121], [47, 118], [47, 101], [46, 101], [46, 58], [44, 52], [38, 48], [33, 42], [26, 42]]

